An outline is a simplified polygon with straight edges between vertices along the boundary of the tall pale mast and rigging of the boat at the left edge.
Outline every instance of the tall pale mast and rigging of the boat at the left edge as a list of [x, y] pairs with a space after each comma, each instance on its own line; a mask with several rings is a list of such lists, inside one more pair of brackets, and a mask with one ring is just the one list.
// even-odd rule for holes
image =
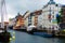
[[4, 14], [5, 14], [5, 2], [1, 0], [1, 28], [4, 28]]

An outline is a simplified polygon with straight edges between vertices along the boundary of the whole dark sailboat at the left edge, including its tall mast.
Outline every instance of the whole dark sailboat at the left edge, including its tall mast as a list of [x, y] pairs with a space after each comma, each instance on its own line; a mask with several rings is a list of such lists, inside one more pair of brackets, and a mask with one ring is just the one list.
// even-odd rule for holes
[[9, 41], [10, 37], [11, 37], [10, 32], [6, 31], [6, 26], [4, 26], [4, 22], [3, 22], [3, 19], [4, 19], [3, 15], [4, 15], [4, 12], [6, 12], [6, 11], [4, 11], [4, 6], [5, 6], [5, 2], [4, 2], [4, 0], [1, 0], [0, 41], [3, 41], [3, 42]]

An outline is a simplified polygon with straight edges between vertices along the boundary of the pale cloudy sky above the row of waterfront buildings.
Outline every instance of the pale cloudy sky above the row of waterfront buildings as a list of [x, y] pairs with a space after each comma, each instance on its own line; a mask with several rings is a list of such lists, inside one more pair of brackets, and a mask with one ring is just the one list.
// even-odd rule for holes
[[[26, 11], [40, 10], [50, 0], [5, 0], [8, 18], [13, 18], [20, 12], [22, 15]], [[54, 0], [56, 3], [65, 4], [65, 0]]]

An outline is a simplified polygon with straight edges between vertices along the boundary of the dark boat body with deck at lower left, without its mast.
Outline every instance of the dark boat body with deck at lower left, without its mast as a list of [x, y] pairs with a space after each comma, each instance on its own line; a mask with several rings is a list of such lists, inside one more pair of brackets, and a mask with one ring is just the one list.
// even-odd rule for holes
[[5, 30], [5, 28], [0, 28], [0, 42], [8, 42], [10, 41], [11, 33]]

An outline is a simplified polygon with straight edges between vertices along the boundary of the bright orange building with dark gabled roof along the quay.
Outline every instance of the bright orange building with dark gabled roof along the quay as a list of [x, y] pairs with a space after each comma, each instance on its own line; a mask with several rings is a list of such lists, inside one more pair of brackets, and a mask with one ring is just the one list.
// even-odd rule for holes
[[16, 28], [18, 29], [20, 27], [24, 27], [25, 26], [24, 25], [25, 19], [24, 19], [23, 15], [18, 14], [15, 18], [16, 18], [16, 23], [15, 23], [15, 26], [14, 26], [15, 29]]

